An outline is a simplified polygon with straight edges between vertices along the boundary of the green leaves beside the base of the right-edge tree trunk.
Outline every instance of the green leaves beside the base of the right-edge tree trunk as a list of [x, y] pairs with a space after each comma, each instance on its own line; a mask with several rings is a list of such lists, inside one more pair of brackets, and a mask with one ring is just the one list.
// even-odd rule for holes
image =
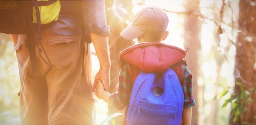
[[[226, 107], [228, 104], [231, 105], [231, 110], [234, 115], [232, 121], [236, 122], [239, 120], [240, 116], [245, 112], [248, 111], [244, 105], [249, 104], [252, 102], [251, 97], [249, 96], [252, 92], [255, 92], [255, 88], [247, 88], [247, 86], [241, 82], [236, 82], [237, 87], [239, 88], [238, 92], [230, 92], [231, 88], [227, 88], [223, 90], [219, 95], [218, 98], [225, 98], [225, 102], [222, 104], [222, 108]], [[245, 121], [242, 121], [243, 124], [248, 124]]]

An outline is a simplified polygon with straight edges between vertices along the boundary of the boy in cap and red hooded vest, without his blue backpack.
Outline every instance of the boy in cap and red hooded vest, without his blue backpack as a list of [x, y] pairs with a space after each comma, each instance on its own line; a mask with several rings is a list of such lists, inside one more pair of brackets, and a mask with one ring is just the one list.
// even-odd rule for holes
[[[139, 11], [132, 23], [120, 33], [127, 40], [137, 39], [138, 44], [120, 53], [124, 65], [119, 73], [117, 92], [113, 94], [105, 92], [99, 81], [95, 95], [116, 109], [123, 109], [129, 105], [133, 83], [140, 71], [165, 71], [180, 62], [186, 52], [178, 47], [161, 43], [168, 36], [167, 26], [168, 17], [162, 9], [146, 7]], [[161, 53], [163, 51], [167, 53]], [[190, 124], [191, 106], [195, 105], [192, 95], [192, 75], [184, 64], [178, 65], [175, 72], [184, 92], [182, 123]]]

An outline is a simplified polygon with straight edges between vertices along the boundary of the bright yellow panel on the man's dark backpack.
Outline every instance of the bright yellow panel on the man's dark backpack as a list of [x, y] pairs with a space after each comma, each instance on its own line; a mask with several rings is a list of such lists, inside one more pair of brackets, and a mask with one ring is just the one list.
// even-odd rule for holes
[[[39, 1], [49, 1], [49, 0], [37, 0]], [[40, 11], [40, 20], [41, 24], [48, 24], [52, 21], [57, 21], [60, 13], [60, 1], [46, 5], [46, 6], [38, 6]], [[33, 23], [37, 23], [36, 9], [33, 7]]]

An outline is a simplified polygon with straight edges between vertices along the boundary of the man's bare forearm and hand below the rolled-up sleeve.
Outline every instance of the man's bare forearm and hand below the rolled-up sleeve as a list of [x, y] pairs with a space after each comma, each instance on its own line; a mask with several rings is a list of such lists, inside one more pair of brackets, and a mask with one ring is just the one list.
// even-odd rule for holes
[[101, 80], [104, 86], [104, 90], [106, 92], [109, 92], [111, 62], [109, 54], [108, 36], [91, 33], [91, 40], [100, 62], [100, 70], [95, 76], [95, 81], [93, 83], [92, 89], [94, 91], [96, 83], [98, 82], [98, 80]]

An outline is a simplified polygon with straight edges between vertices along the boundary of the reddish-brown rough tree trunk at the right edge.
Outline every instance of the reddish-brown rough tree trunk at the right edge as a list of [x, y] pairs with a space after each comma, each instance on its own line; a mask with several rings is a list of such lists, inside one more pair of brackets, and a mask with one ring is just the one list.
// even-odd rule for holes
[[[237, 42], [236, 42], [236, 57], [234, 66], [234, 78], [235, 82], [242, 83], [244, 91], [250, 92], [249, 98], [252, 102], [246, 103], [244, 99], [240, 99], [238, 103], [246, 103], [243, 105], [243, 109], [246, 109], [244, 113], [239, 116], [236, 122], [233, 122], [234, 111], [231, 110], [230, 124], [242, 124], [247, 122], [250, 124], [256, 123], [256, 6], [255, 1], [239, 2], [239, 30]], [[235, 84], [234, 95], [241, 94], [241, 85]]]

